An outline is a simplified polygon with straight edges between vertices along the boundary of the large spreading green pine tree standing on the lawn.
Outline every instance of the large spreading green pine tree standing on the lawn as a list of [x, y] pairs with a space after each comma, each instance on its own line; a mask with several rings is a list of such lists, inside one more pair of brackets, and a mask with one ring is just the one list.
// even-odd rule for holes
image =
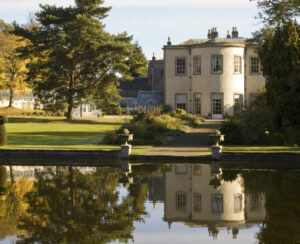
[[15, 24], [15, 33], [31, 41], [23, 53], [39, 57], [28, 66], [36, 95], [44, 102], [67, 103], [68, 119], [85, 99], [104, 96], [107, 84], [116, 84], [120, 75], [130, 79], [146, 64], [131, 36], [105, 31], [102, 20], [110, 8], [103, 3], [75, 0], [74, 6], [66, 8], [40, 5], [38, 26], [26, 30]]

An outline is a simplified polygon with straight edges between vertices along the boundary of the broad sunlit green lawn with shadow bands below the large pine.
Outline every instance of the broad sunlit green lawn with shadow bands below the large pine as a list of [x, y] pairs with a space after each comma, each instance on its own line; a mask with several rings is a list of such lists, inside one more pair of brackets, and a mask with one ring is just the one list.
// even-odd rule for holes
[[9, 118], [7, 145], [2, 149], [118, 149], [99, 145], [105, 132], [119, 128], [125, 120], [92, 119], [68, 121], [64, 118]]

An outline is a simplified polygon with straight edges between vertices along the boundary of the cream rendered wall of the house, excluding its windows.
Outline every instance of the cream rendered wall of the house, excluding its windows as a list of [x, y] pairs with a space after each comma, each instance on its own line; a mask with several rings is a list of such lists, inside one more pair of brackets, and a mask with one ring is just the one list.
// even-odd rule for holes
[[[222, 55], [223, 72], [212, 73], [212, 55]], [[216, 46], [172, 46], [165, 47], [165, 104], [175, 109], [176, 94], [186, 94], [187, 112], [194, 112], [193, 96], [201, 94], [201, 114], [211, 114], [211, 94], [223, 94], [223, 115], [232, 114], [234, 109], [234, 95], [240, 94], [248, 100], [250, 93], [264, 86], [261, 74], [249, 75], [250, 57], [257, 55], [253, 48], [247, 48], [246, 57], [244, 45], [216, 45]], [[193, 74], [193, 56], [201, 56], [201, 74]], [[234, 57], [241, 57], [241, 73], [234, 72]], [[175, 60], [186, 59], [186, 74], [176, 75]], [[246, 60], [246, 66], [245, 66]], [[246, 74], [245, 74], [246, 67]], [[246, 78], [246, 80], [245, 80]], [[246, 84], [246, 97], [245, 97]]]

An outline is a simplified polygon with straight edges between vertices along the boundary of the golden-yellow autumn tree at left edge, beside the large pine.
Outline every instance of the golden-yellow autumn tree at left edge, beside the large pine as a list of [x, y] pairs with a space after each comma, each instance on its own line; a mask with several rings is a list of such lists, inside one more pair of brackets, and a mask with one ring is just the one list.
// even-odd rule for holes
[[26, 45], [26, 41], [11, 34], [11, 31], [13, 26], [0, 20], [0, 88], [10, 91], [8, 107], [13, 106], [16, 90], [26, 88], [26, 63], [28, 62], [20, 57], [17, 50]]

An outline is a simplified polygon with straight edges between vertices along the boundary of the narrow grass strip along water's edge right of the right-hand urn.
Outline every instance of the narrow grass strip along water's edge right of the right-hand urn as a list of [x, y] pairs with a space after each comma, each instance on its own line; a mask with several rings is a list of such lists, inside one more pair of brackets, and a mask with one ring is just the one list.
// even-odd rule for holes
[[300, 153], [300, 147], [290, 146], [224, 146], [223, 152]]

